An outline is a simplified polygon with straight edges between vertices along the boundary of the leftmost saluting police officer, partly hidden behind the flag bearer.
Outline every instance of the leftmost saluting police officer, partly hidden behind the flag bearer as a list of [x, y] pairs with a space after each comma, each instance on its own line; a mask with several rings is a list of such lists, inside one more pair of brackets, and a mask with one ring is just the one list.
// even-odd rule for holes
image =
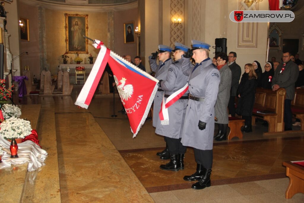
[[[150, 68], [155, 72], [155, 78], [158, 80], [165, 80], [168, 74], [168, 69], [173, 60], [171, 59], [172, 48], [166, 45], [158, 45], [158, 51], [152, 53], [152, 56], [149, 56]], [[158, 56], [159, 64], [156, 63], [156, 58]], [[163, 100], [164, 90], [161, 88], [157, 89], [157, 93], [154, 97], [153, 104], [153, 127], [157, 126], [157, 121], [159, 120], [158, 113], [161, 110], [161, 101]], [[166, 142], [166, 137], [164, 136]], [[167, 142], [166, 142], [167, 143]], [[157, 152], [157, 156], [161, 156], [161, 159], [170, 159], [170, 154], [168, 152], [168, 145], [162, 152]]]

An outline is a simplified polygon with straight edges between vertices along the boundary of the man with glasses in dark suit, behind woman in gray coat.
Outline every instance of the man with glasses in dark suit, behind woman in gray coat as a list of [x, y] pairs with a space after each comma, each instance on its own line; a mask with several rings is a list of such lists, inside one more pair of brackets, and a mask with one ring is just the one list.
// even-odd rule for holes
[[230, 51], [228, 55], [228, 63], [229, 63], [229, 68], [232, 73], [232, 82], [231, 82], [231, 89], [230, 89], [230, 99], [228, 103], [228, 110], [229, 114], [231, 116], [235, 116], [235, 105], [234, 105], [234, 100], [235, 97], [237, 96], [237, 87], [239, 86], [239, 81], [241, 77], [241, 67], [237, 65], [235, 60], [237, 59], [237, 53]]

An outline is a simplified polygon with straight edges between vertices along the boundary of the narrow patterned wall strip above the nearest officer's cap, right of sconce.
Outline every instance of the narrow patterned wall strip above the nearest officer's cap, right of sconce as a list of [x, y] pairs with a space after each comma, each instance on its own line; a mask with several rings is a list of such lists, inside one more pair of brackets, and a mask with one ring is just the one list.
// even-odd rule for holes
[[200, 29], [197, 29], [201, 26], [201, 0], [192, 1], [192, 27], [191, 27], [191, 39], [200, 40]]

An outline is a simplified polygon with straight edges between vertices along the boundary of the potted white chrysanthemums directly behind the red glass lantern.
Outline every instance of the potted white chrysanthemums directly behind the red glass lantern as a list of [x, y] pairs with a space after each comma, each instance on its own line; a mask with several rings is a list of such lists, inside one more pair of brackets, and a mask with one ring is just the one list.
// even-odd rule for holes
[[21, 118], [11, 117], [1, 123], [0, 136], [5, 139], [24, 138], [31, 133], [31, 123]]

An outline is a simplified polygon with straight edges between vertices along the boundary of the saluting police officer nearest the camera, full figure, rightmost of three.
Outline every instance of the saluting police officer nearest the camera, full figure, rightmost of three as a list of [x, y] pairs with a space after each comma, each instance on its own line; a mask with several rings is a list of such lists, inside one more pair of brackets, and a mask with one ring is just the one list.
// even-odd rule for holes
[[[199, 180], [192, 188], [203, 189], [211, 186], [214, 105], [219, 91], [220, 73], [208, 57], [209, 44], [192, 40], [192, 47], [195, 66], [189, 58], [182, 61], [183, 72], [189, 75], [189, 101], [181, 143], [193, 147], [197, 163], [196, 172], [185, 176], [184, 180]], [[190, 57], [189, 55], [186, 54], [185, 57]]]

